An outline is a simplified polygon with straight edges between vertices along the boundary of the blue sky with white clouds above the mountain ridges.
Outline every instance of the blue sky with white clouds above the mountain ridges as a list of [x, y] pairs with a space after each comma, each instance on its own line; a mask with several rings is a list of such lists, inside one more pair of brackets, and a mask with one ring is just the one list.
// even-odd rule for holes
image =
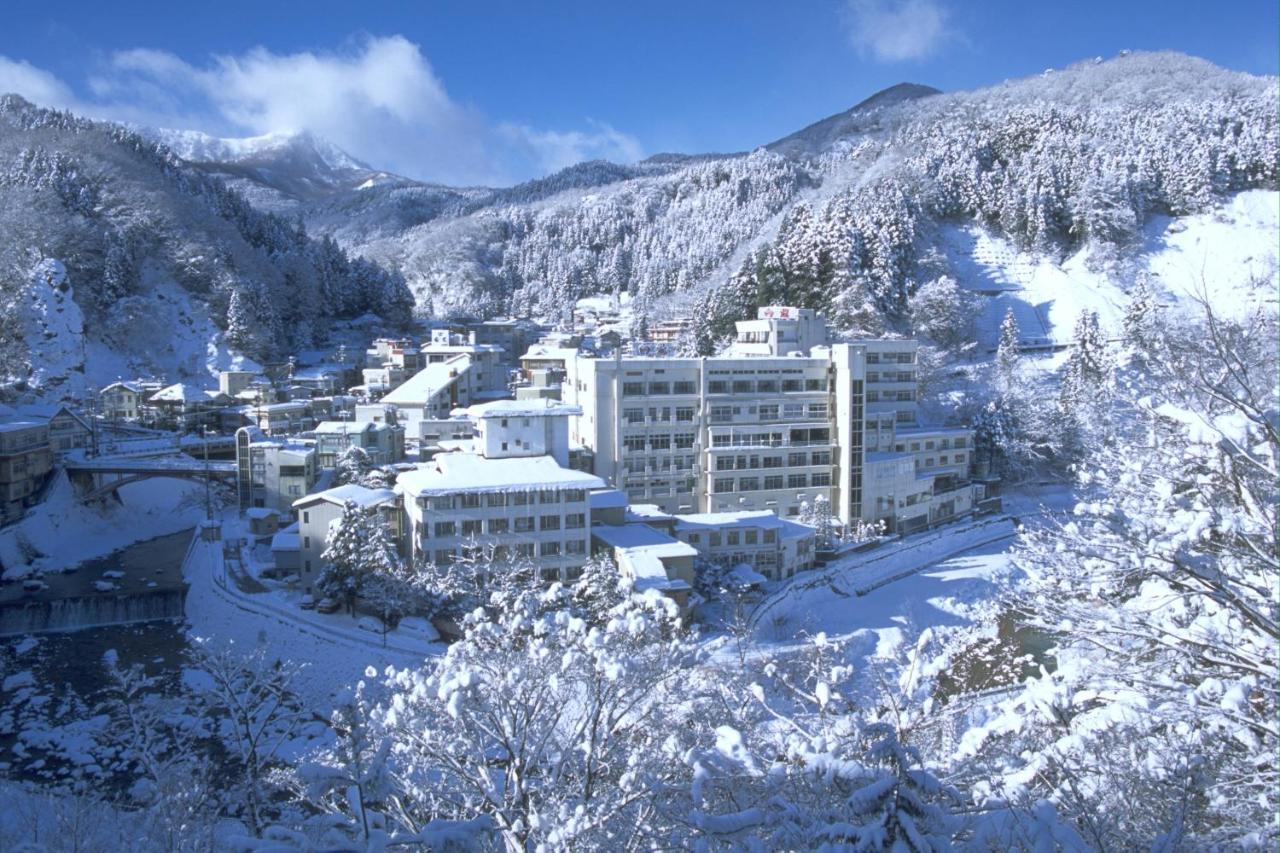
[[509, 183], [737, 151], [901, 81], [974, 88], [1123, 49], [1276, 74], [1275, 0], [8, 0], [0, 91], [220, 136], [310, 129], [372, 165]]

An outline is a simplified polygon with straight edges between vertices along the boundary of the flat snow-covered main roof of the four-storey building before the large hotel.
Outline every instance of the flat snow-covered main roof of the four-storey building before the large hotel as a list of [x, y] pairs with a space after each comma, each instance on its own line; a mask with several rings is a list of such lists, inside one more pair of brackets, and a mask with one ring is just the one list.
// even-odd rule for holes
[[604, 480], [561, 467], [550, 456], [485, 459], [476, 453], [440, 453], [413, 471], [401, 474], [396, 487], [407, 494], [454, 494], [502, 489], [598, 489]]

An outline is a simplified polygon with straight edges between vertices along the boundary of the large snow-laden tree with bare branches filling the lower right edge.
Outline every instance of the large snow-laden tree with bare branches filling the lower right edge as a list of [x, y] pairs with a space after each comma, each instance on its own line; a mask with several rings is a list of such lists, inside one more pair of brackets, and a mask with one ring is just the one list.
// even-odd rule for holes
[[1019, 607], [1057, 635], [1057, 666], [961, 757], [1006, 800], [1057, 802], [1097, 848], [1280, 838], [1275, 341], [1274, 316], [1208, 306], [1171, 332], [1121, 387], [1075, 511], [1020, 540]]

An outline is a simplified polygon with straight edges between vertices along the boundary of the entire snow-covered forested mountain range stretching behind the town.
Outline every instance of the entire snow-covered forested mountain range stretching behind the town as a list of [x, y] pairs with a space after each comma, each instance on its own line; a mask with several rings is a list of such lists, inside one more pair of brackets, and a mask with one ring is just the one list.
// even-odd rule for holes
[[[556, 319], [627, 292], [636, 316], [698, 318], [685, 346], [699, 351], [764, 301], [822, 309], [847, 333], [918, 333], [924, 283], [968, 284], [957, 228], [1037, 263], [1085, 259], [1123, 291], [1158, 218], [1275, 190], [1275, 91], [1128, 54], [972, 92], [900, 85], [749, 154], [582, 163], [509, 188], [389, 175], [306, 133], [165, 131], [156, 146], [8, 99], [3, 292], [24, 305], [35, 261], [58, 260], [86, 337], [119, 356], [102, 361], [182, 370], [215, 337], [268, 355], [333, 316], [403, 319], [398, 277], [421, 316]], [[170, 310], [186, 300], [204, 314]], [[191, 323], [198, 345], [157, 355], [157, 336]], [[29, 342], [0, 334], [0, 351], [18, 365], [8, 375], [31, 374]]]

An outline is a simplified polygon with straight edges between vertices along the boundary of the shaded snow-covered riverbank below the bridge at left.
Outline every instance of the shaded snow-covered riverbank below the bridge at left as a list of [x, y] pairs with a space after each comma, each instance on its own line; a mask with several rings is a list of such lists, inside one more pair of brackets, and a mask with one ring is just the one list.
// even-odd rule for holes
[[184, 530], [204, 515], [204, 487], [151, 479], [120, 487], [120, 503], [82, 503], [58, 473], [44, 503], [0, 529], [4, 578], [58, 571], [118, 548]]

